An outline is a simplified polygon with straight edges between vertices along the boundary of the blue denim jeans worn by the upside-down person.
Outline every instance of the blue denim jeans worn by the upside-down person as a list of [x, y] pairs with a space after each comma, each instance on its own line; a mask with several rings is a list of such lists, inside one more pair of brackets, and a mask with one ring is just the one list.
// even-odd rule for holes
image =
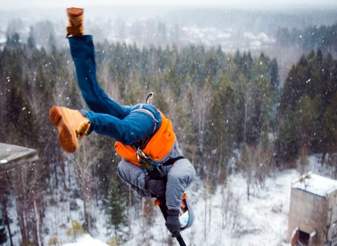
[[[91, 35], [70, 37], [70, 52], [82, 96], [91, 111], [81, 110], [90, 121], [89, 133], [95, 131], [131, 145], [151, 136], [161, 125], [161, 115], [149, 104], [121, 106], [105, 94], [96, 78], [95, 50]], [[140, 107], [152, 112], [155, 120]]]

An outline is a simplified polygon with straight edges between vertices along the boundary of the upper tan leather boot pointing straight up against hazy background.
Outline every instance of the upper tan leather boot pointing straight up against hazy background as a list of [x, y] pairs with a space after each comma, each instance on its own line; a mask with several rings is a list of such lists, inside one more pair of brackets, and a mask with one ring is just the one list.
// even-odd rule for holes
[[81, 36], [83, 35], [83, 8], [67, 8], [68, 26], [67, 36]]

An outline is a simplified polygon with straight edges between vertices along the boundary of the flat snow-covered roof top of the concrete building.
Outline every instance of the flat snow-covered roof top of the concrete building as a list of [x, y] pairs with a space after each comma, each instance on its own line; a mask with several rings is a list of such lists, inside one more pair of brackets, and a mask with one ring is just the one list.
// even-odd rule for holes
[[337, 180], [308, 172], [293, 180], [292, 188], [326, 197], [337, 190]]

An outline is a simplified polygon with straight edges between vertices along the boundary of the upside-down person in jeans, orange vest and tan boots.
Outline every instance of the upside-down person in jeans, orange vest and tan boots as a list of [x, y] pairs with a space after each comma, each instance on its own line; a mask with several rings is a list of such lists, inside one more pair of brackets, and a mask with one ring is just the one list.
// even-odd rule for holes
[[184, 192], [195, 179], [195, 169], [179, 149], [172, 122], [156, 107], [119, 105], [99, 86], [93, 37], [83, 32], [83, 11], [67, 8], [67, 37], [77, 83], [90, 111], [59, 106], [50, 109], [60, 146], [72, 153], [78, 149], [78, 138], [93, 131], [114, 138], [115, 150], [122, 157], [117, 166], [119, 177], [142, 197], [164, 198], [165, 225], [172, 237], [177, 237], [194, 221]]

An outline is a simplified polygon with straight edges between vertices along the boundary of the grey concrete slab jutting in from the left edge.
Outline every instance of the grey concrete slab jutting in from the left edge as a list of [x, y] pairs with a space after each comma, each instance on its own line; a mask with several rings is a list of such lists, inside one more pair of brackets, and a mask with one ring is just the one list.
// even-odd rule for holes
[[0, 143], [0, 172], [16, 168], [38, 159], [34, 149]]

